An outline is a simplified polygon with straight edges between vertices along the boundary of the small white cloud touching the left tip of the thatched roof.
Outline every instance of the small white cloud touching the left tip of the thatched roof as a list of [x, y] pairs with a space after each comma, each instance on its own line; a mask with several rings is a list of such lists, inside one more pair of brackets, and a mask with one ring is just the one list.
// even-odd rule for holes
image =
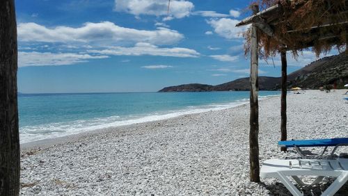
[[237, 19], [228, 18], [210, 19], [207, 21], [207, 23], [214, 28], [215, 33], [230, 40], [242, 38], [242, 31], [245, 31], [246, 28], [236, 27], [238, 22], [239, 20]]

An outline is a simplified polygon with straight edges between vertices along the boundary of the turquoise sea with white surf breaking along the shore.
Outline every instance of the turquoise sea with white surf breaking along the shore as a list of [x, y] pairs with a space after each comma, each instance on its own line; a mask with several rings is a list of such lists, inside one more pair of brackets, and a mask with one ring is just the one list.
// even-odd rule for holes
[[[260, 99], [279, 91], [260, 91]], [[19, 94], [21, 143], [113, 126], [219, 111], [248, 103], [249, 92]]]

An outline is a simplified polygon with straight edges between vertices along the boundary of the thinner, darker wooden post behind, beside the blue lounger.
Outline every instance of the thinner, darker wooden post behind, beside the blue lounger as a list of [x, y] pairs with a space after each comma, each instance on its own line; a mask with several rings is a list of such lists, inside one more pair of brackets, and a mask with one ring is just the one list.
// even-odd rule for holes
[[[287, 62], [286, 62], [286, 51], [280, 51], [281, 61], [282, 61], [282, 81], [281, 88], [282, 94], [280, 98], [281, 109], [280, 109], [280, 141], [285, 141], [287, 139], [287, 117], [286, 117], [286, 94], [287, 94]], [[280, 147], [281, 151], [286, 151], [286, 147]]]

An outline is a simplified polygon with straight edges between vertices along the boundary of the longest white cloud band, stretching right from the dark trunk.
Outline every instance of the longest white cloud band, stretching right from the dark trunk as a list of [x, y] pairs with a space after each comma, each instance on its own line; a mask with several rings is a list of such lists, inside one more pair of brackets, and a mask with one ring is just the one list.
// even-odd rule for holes
[[19, 40], [26, 42], [149, 42], [161, 45], [174, 44], [184, 38], [184, 35], [177, 31], [164, 27], [158, 27], [155, 31], [145, 31], [125, 28], [112, 22], [88, 22], [77, 28], [47, 28], [30, 22], [19, 24], [17, 29]]

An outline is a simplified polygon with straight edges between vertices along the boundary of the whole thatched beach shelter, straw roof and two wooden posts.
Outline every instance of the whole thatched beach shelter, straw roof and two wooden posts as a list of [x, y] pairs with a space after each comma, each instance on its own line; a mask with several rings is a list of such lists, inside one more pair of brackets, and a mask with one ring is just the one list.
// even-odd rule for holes
[[[263, 9], [259, 10], [259, 7]], [[251, 24], [244, 33], [246, 54], [251, 54], [250, 177], [260, 181], [258, 158], [258, 58], [276, 56], [282, 62], [281, 140], [286, 140], [286, 52], [296, 57], [311, 48], [319, 56], [337, 48], [346, 51], [348, 0], [261, 0], [252, 3], [253, 15], [236, 26]]]

